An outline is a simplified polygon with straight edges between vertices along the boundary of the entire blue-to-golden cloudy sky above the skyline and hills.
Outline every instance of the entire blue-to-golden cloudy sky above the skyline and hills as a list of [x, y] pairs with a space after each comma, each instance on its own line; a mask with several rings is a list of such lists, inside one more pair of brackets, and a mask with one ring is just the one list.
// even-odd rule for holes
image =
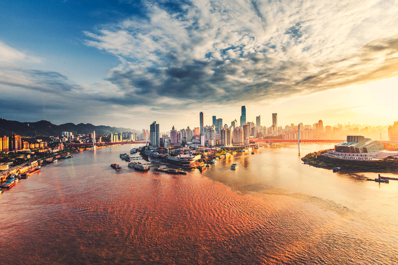
[[0, 118], [398, 120], [398, 1], [2, 1]]

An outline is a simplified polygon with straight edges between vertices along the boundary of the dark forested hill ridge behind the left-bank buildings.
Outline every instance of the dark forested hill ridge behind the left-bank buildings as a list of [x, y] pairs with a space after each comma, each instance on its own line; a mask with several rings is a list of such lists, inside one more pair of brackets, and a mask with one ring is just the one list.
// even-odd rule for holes
[[61, 135], [61, 132], [72, 132], [74, 134], [88, 134], [96, 131], [97, 134], [107, 133], [118, 133], [118, 132], [136, 132], [140, 131], [133, 130], [130, 128], [116, 128], [110, 126], [95, 126], [87, 123], [65, 123], [60, 125], [52, 124], [47, 120], [41, 120], [39, 122], [17, 122], [15, 120], [0, 119], [0, 135], [10, 136], [12, 133], [19, 134], [21, 136], [37, 136], [37, 135]]

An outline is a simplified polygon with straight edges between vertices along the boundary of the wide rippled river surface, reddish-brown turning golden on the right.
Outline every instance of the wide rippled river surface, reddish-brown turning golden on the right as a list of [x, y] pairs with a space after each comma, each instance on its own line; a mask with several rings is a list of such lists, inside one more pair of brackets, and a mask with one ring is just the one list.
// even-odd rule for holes
[[130, 149], [75, 154], [5, 192], [0, 263], [397, 263], [398, 181], [304, 165], [297, 145], [187, 175], [128, 168]]

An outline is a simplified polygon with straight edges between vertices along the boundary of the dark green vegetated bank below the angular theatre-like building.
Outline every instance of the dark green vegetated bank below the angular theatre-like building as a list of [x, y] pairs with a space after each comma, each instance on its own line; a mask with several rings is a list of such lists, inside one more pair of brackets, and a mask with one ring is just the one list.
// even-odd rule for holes
[[310, 166], [318, 168], [332, 169], [334, 167], [340, 167], [342, 169], [358, 170], [361, 172], [380, 172], [380, 173], [394, 173], [398, 174], [398, 159], [386, 158], [375, 161], [356, 161], [356, 160], [344, 160], [326, 157], [323, 155], [327, 150], [321, 150], [318, 152], [308, 153], [302, 157], [302, 161]]

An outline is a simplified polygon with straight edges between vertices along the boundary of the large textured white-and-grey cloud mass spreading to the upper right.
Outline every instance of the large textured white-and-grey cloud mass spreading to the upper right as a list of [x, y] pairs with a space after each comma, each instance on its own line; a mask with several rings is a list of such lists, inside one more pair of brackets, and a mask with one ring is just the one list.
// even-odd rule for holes
[[394, 1], [147, 2], [146, 11], [85, 32], [86, 45], [121, 58], [106, 78], [119, 99], [267, 103], [398, 75]]

